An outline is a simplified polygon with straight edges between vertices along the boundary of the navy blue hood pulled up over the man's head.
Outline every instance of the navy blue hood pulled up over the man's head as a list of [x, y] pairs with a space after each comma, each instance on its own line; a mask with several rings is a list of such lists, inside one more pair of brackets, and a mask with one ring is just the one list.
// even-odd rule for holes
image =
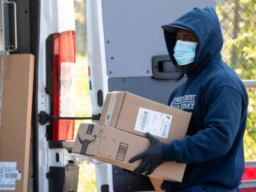
[[218, 16], [213, 8], [193, 8], [193, 10], [174, 22], [162, 26], [162, 28], [164, 29], [166, 47], [174, 65], [178, 65], [173, 57], [177, 29], [188, 29], [195, 34], [197, 38], [196, 56], [195, 61], [190, 66], [189, 74], [202, 70], [212, 58], [221, 58], [223, 36]]

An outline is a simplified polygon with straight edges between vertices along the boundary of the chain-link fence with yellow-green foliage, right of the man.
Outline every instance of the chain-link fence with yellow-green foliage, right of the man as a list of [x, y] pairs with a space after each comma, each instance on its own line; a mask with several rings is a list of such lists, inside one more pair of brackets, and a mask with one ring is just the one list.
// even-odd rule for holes
[[[216, 0], [224, 44], [222, 58], [241, 79], [256, 78], [256, 1]], [[248, 119], [244, 134], [246, 161], [256, 161], [256, 88], [247, 88]]]

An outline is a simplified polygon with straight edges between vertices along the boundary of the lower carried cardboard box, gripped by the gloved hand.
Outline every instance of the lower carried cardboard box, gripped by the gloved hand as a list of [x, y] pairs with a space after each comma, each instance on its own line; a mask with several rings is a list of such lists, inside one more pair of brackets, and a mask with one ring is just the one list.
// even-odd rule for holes
[[[129, 163], [131, 157], [147, 150], [147, 138], [102, 125], [81, 124], [72, 152], [88, 155], [94, 159], [134, 170], [141, 160]], [[186, 164], [174, 161], [158, 166], [150, 175], [162, 180], [181, 182]]]

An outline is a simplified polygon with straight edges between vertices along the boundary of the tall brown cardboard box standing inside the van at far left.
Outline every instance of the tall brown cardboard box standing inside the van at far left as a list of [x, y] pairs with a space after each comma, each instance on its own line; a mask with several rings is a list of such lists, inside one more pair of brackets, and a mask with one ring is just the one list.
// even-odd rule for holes
[[[18, 175], [20, 171], [20, 180], [14, 180], [13, 191], [26, 192], [28, 191], [34, 56], [12, 54], [0, 57], [0, 66], [4, 68], [0, 166], [6, 167], [3, 162], [9, 162], [13, 165], [12, 173]], [[0, 183], [2, 184], [0, 189], [3, 189], [3, 179]]]

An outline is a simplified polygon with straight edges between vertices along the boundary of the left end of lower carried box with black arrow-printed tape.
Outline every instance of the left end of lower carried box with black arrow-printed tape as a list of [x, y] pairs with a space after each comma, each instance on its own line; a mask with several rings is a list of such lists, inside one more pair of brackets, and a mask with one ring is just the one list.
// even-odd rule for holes
[[104, 126], [80, 124], [72, 152], [95, 156], [97, 154]]

